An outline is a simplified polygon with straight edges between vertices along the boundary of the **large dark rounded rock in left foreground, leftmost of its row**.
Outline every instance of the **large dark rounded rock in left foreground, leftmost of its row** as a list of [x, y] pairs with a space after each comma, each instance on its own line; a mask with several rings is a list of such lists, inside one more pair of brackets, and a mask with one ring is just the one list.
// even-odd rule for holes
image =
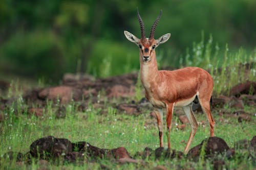
[[35, 158], [49, 160], [52, 157], [57, 158], [62, 153], [68, 153], [73, 150], [72, 143], [68, 139], [46, 136], [35, 140], [30, 145], [30, 154]]

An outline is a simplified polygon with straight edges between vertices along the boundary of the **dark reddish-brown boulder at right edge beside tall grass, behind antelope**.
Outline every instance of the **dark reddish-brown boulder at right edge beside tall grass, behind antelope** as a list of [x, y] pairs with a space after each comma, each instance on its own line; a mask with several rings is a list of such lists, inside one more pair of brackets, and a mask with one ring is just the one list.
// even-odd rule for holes
[[232, 87], [229, 91], [229, 95], [240, 96], [241, 94], [255, 94], [256, 92], [256, 82], [247, 81], [245, 83], [240, 83]]

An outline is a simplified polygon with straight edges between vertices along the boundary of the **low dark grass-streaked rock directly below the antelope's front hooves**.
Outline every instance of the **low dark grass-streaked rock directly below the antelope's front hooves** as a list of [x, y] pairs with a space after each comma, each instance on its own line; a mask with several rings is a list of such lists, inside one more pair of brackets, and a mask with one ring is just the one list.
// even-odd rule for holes
[[183, 156], [184, 156], [183, 152], [165, 149], [163, 147], [159, 147], [155, 150], [156, 159], [173, 159], [173, 158], [181, 159]]

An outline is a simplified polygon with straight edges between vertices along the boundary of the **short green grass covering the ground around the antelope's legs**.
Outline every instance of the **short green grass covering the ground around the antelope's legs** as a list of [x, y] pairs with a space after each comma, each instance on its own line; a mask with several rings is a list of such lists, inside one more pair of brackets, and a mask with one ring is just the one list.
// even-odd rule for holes
[[[150, 117], [150, 110], [148, 109], [144, 109], [142, 114], [139, 116], [131, 116], [109, 106], [109, 101], [104, 104], [104, 110], [107, 110], [108, 114], [103, 115], [101, 114], [101, 109], [94, 109], [92, 105], [89, 105], [85, 112], [77, 111], [74, 103], [70, 103], [66, 105], [66, 107], [66, 117], [60, 119], [55, 118], [54, 110], [56, 106], [51, 104], [51, 102], [49, 102], [49, 105], [45, 107], [45, 114], [41, 118], [31, 116], [26, 113], [26, 111], [15, 113], [15, 109], [13, 107], [6, 109], [4, 111], [6, 120], [0, 124], [0, 156], [3, 156], [3, 154], [8, 151], [26, 153], [29, 151], [30, 144], [34, 140], [48, 135], [59, 138], [68, 138], [72, 142], [87, 141], [99, 148], [113, 149], [125, 147], [132, 156], [137, 151], [143, 151], [145, 147], [150, 147], [152, 149], [159, 147], [156, 119]], [[230, 111], [231, 109], [232, 108], [228, 108]], [[253, 114], [256, 112], [256, 109], [246, 107], [245, 111]], [[219, 119], [221, 117], [218, 115], [218, 111], [215, 109], [212, 114], [216, 120], [216, 136], [225, 139], [230, 148], [233, 147], [235, 141], [240, 139], [251, 139], [253, 135], [256, 135], [254, 129], [256, 118], [254, 116], [252, 116], [250, 122], [246, 123], [238, 123], [237, 118], [229, 117], [225, 118], [226, 123], [220, 123]], [[202, 120], [206, 122], [206, 117], [204, 114], [197, 113], [196, 117], [198, 122], [202, 122]], [[184, 130], [179, 130], [176, 128], [176, 124], [180, 124], [180, 122], [177, 116], [174, 115], [171, 133], [172, 148], [178, 151], [183, 151], [185, 148], [185, 143], [183, 143], [182, 140], [186, 141], [188, 139], [190, 126], [187, 125]], [[191, 144], [191, 148], [201, 143], [201, 141], [207, 137], [209, 137], [209, 127], [206, 122], [205, 125], [201, 125], [198, 128], [194, 141]], [[165, 147], [167, 146], [166, 136], [164, 136], [164, 145]], [[141, 168], [149, 168], [159, 164], [164, 166], [167, 165], [166, 167], [168, 167], [168, 165], [170, 167], [175, 167], [176, 165], [178, 166], [182, 164], [185, 166], [187, 160], [148, 160], [147, 165], [118, 165], [111, 163], [109, 160], [101, 160], [98, 163], [86, 163], [82, 166], [47, 166], [52, 169], [61, 169], [62, 167], [67, 169], [97, 169], [102, 162], [111, 168], [125, 169], [129, 167], [135, 169], [138, 166]], [[210, 162], [206, 163], [204, 166], [200, 165], [200, 163], [189, 163], [192, 163], [192, 166], [196, 169], [204, 169], [205, 167], [207, 167], [207, 169], [212, 168]], [[227, 165], [231, 168], [238, 166], [235, 160], [229, 161]], [[5, 161], [4, 159], [1, 161], [1, 166], [7, 169], [36, 169], [40, 167], [40, 165], [36, 163], [32, 165], [17, 165], [14, 162], [10, 166], [9, 162]], [[241, 163], [239, 166], [241, 166]], [[246, 167], [248, 167], [248, 169], [251, 169], [252, 167], [249, 160], [246, 163]]]

